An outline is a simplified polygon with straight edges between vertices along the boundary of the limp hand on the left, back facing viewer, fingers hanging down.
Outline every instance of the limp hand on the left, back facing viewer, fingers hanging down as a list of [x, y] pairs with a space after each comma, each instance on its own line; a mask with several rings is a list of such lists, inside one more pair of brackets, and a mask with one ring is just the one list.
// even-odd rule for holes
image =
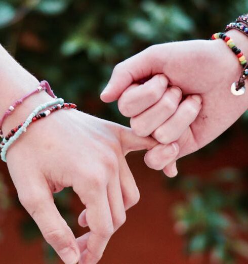
[[[125, 210], [139, 200], [125, 155], [156, 144], [135, 136], [131, 128], [60, 110], [28, 127], [9, 149], [7, 164], [21, 204], [62, 260], [76, 263], [81, 254], [79, 263], [97, 263], [125, 222]], [[79, 222], [90, 228], [77, 241], [52, 195], [70, 186], [86, 206]]]

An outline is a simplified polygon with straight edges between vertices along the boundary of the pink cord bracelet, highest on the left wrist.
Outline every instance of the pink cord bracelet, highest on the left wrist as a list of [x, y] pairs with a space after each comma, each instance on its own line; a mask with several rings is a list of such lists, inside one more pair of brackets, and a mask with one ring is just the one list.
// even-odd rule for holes
[[41, 81], [39, 83], [39, 86], [34, 91], [26, 94], [21, 99], [17, 100], [13, 105], [11, 105], [9, 107], [9, 109], [5, 112], [2, 119], [0, 119], [0, 137], [1, 138], [3, 138], [2, 125], [4, 123], [4, 120], [7, 118], [7, 116], [11, 115], [13, 113], [13, 111], [16, 109], [16, 107], [18, 105], [20, 105], [25, 99], [27, 99], [28, 97], [30, 97], [36, 93], [42, 92], [42, 91], [46, 91], [51, 97], [57, 98], [57, 96], [55, 96], [55, 94], [53, 93], [48, 81], [46, 81], [46, 80]]

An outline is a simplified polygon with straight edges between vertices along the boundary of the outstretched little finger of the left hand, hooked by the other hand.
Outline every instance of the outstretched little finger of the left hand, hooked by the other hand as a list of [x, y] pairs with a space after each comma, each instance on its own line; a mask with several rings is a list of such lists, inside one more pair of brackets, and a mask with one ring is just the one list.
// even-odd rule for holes
[[134, 131], [126, 126], [121, 128], [121, 145], [122, 150], [125, 155], [127, 155], [131, 151], [136, 150], [150, 150], [159, 144], [152, 137], [139, 137], [135, 135]]

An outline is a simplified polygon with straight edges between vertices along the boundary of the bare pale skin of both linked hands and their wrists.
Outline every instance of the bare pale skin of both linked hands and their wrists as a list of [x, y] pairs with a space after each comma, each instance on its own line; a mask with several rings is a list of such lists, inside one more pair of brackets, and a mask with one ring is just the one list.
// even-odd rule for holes
[[[246, 37], [239, 32], [229, 33], [232, 34], [237, 46], [247, 54]], [[2, 47], [0, 56], [2, 115], [13, 101], [35, 89], [38, 81]], [[164, 172], [173, 175], [179, 157], [208, 144], [245, 111], [247, 93], [234, 97], [229, 91], [239, 74], [237, 59], [222, 40], [153, 46], [119, 64], [101, 98], [106, 102], [119, 99], [120, 110], [132, 117], [134, 131], [140, 136], [151, 133], [161, 144], [138, 137], [127, 127], [72, 109], [60, 110], [39, 120], [13, 144], [7, 153], [7, 165], [20, 202], [65, 263], [78, 260], [97, 263], [113, 232], [125, 222], [125, 210], [139, 200], [125, 160], [129, 151], [147, 149], [148, 166], [163, 167]], [[135, 92], [138, 80], [151, 76], [150, 82], [142, 86], [143, 90]], [[145, 86], [150, 92], [143, 93]], [[176, 87], [187, 97], [183, 102], [181, 95], [176, 95], [180, 90], [173, 91]], [[45, 93], [26, 100], [4, 123], [4, 134], [23, 121], [37, 104], [48, 100], [51, 98]], [[160, 114], [163, 106], [166, 118]], [[164, 129], [164, 124], [175, 116], [179, 116], [176, 120], [180, 122]], [[177, 129], [181, 123], [182, 127]], [[177, 130], [181, 134], [175, 140]], [[58, 212], [52, 195], [69, 186], [86, 206], [78, 222], [90, 228], [89, 233], [77, 240]]]

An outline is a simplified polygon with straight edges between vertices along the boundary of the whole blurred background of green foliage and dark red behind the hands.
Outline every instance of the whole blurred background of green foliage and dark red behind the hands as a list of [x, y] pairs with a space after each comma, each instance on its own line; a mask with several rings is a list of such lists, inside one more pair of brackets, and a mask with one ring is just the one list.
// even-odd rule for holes
[[[118, 62], [155, 43], [204, 38], [248, 12], [248, 0], [0, 1], [0, 41], [58, 97], [129, 125], [99, 94]], [[248, 115], [178, 162], [167, 179], [143, 152], [128, 161], [141, 200], [111, 238], [102, 264], [248, 263]], [[71, 189], [55, 195], [76, 236], [83, 206]], [[17, 199], [0, 163], [0, 263], [61, 263]]]

